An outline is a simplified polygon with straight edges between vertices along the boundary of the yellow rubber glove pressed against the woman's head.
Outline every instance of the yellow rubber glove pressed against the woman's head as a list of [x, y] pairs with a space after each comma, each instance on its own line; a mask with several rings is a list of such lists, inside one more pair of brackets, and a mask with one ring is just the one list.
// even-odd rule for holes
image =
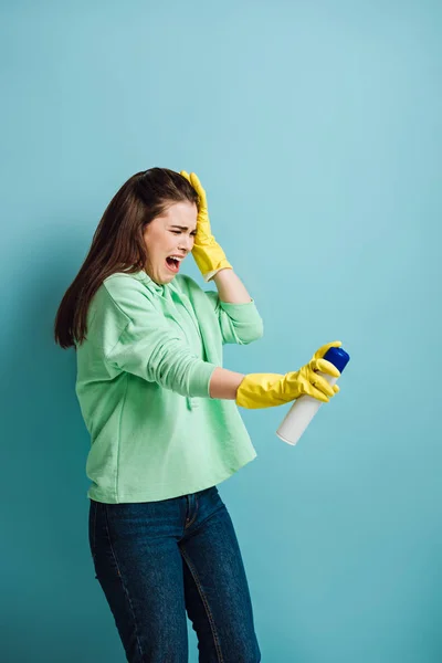
[[187, 179], [198, 193], [198, 217], [197, 217], [197, 234], [192, 249], [194, 262], [200, 270], [204, 281], [210, 281], [212, 276], [220, 270], [233, 270], [232, 265], [225, 257], [225, 253], [214, 239], [209, 220], [209, 210], [207, 204], [206, 191], [201, 186], [198, 176], [194, 172], [190, 175], [186, 170], [181, 170], [180, 175]]

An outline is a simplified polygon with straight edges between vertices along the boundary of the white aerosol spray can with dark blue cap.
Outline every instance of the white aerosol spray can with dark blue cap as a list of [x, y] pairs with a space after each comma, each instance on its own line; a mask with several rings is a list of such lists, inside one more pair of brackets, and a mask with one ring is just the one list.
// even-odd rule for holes
[[[339, 372], [343, 372], [350, 357], [343, 348], [329, 348], [324, 355], [324, 359], [327, 359], [327, 361], [336, 366]], [[319, 376], [323, 376], [329, 385], [335, 385], [338, 379], [322, 371], [317, 372]], [[317, 398], [307, 394], [299, 396], [283, 419], [276, 431], [276, 435], [281, 438], [283, 442], [287, 442], [287, 444], [296, 444], [322, 404], [323, 401]]]

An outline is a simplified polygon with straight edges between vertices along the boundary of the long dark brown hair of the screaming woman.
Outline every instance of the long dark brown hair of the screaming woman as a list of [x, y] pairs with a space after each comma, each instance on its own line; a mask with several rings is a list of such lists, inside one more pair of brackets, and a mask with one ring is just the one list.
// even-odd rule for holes
[[133, 175], [115, 193], [94, 233], [78, 274], [66, 290], [54, 323], [55, 343], [62, 348], [86, 337], [91, 301], [105, 278], [116, 272], [134, 274], [146, 265], [144, 231], [173, 202], [198, 204], [198, 194], [185, 177], [168, 168]]

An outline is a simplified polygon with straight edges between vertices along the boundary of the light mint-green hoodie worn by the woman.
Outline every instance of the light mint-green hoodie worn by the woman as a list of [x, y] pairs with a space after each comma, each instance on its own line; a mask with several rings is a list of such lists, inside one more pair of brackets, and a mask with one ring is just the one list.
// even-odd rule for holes
[[212, 399], [222, 346], [263, 335], [253, 299], [222, 302], [185, 274], [104, 281], [87, 312], [75, 391], [91, 434], [87, 496], [156, 502], [213, 486], [256, 457], [233, 400]]

